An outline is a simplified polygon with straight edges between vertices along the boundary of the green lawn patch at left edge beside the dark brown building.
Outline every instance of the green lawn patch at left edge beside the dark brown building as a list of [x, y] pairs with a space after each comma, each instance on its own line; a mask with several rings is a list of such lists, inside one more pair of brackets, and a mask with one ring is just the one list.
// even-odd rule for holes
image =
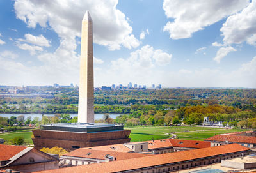
[[28, 144], [33, 144], [31, 135], [31, 130], [21, 130], [22, 132], [11, 132], [11, 133], [0, 133], [0, 138], [3, 138], [4, 140], [10, 140], [15, 137], [24, 137], [25, 142]]

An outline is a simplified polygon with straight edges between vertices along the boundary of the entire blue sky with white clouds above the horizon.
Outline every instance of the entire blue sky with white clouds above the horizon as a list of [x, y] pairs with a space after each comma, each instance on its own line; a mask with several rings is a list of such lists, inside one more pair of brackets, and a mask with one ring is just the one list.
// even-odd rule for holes
[[255, 0], [0, 0], [0, 85], [79, 85], [86, 10], [95, 87], [256, 87]]

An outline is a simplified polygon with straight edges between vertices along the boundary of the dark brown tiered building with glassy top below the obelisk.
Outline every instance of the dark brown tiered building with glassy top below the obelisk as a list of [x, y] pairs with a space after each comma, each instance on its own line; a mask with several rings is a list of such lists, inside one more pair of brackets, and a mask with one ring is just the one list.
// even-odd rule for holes
[[81, 147], [104, 146], [130, 142], [131, 130], [116, 124], [60, 123], [41, 125], [32, 130], [35, 149], [62, 147], [72, 151]]

